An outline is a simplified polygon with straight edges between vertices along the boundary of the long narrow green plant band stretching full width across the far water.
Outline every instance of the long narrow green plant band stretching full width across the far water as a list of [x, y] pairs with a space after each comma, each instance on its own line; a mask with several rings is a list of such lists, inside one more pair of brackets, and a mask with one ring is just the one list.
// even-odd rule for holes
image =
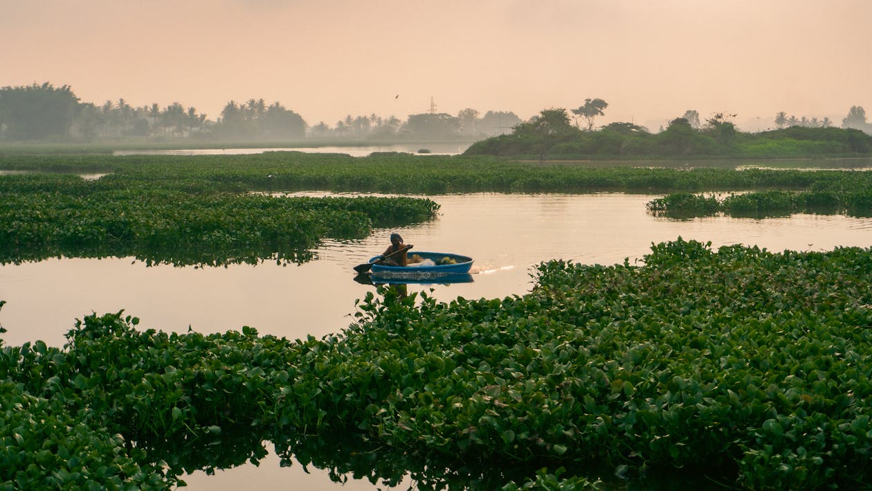
[[[735, 165], [745, 165], [736, 160]], [[637, 166], [647, 166], [644, 161]], [[537, 166], [495, 157], [376, 153], [275, 152], [256, 155], [0, 156], [0, 169], [111, 173], [106, 188], [147, 185], [186, 192], [336, 191], [391, 194], [446, 193], [671, 193], [806, 190], [869, 182], [868, 171], [773, 168]], [[11, 176], [0, 176], [0, 192]]]

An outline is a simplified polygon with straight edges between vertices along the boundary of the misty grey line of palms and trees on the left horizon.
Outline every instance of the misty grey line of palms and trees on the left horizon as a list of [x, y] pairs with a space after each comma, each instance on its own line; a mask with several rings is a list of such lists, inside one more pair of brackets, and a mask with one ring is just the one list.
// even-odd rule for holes
[[309, 126], [302, 116], [279, 102], [230, 100], [219, 118], [207, 119], [194, 107], [178, 102], [161, 107], [130, 106], [125, 99], [102, 105], [81, 102], [69, 85], [6, 86], [0, 88], [0, 141], [23, 140], [476, 140], [510, 133], [521, 119], [510, 112], [474, 109], [457, 116], [412, 114], [405, 121], [346, 116], [335, 126]]

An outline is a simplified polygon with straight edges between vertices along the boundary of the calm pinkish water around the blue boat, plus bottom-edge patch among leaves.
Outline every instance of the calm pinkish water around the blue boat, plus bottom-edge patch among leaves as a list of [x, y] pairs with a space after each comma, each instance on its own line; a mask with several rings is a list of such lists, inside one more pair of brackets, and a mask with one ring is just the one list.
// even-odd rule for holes
[[[453, 194], [431, 196], [441, 205], [433, 222], [378, 230], [351, 243], [328, 242], [318, 259], [300, 266], [234, 265], [198, 269], [146, 268], [131, 258], [51, 259], [0, 266], [0, 325], [5, 344], [43, 339], [64, 344], [75, 318], [126, 310], [140, 327], [164, 331], [215, 332], [255, 327], [262, 334], [317, 338], [351, 324], [355, 299], [374, 287], [352, 280], [358, 263], [378, 254], [398, 231], [415, 249], [473, 256], [473, 283], [409, 285], [433, 289], [434, 297], [505, 297], [531, 286], [536, 263], [630, 263], [650, 251], [651, 242], [711, 241], [712, 247], [743, 243], [773, 251], [828, 250], [872, 245], [872, 218], [794, 215], [764, 220], [709, 217], [687, 221], [654, 217], [645, 203], [660, 195], [639, 194]], [[412, 251], [413, 252], [413, 251]], [[274, 455], [251, 465], [197, 473], [185, 480], [192, 490], [337, 489], [325, 473], [279, 467]], [[406, 484], [407, 487], [407, 484]], [[350, 480], [344, 489], [372, 489]]]

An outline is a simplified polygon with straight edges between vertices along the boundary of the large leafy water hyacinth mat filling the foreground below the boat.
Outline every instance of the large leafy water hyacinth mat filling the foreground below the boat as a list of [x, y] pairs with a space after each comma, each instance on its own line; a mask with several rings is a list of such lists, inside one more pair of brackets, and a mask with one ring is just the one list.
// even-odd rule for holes
[[596, 469], [760, 489], [872, 478], [872, 249], [679, 238], [641, 266], [535, 276], [503, 299], [383, 290], [323, 339], [140, 331], [119, 313], [85, 317], [62, 349], [3, 346], [0, 481], [168, 487], [256, 462], [262, 440], [336, 479], [432, 488], [594, 487]]

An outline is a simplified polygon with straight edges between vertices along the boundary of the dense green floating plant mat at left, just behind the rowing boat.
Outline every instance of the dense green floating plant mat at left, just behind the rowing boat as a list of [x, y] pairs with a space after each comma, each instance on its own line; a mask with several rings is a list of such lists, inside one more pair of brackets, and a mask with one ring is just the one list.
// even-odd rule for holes
[[76, 175], [0, 177], [0, 263], [51, 256], [303, 263], [325, 238], [361, 239], [374, 227], [430, 220], [439, 208], [405, 197], [286, 197], [198, 186], [183, 177], [172, 187]]

